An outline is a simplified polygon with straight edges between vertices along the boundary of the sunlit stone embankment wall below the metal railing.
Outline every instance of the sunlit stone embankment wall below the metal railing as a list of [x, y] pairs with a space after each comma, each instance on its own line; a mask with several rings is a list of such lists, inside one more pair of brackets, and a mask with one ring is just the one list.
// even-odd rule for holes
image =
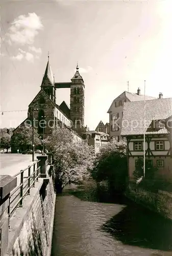
[[10, 219], [7, 255], [51, 255], [55, 200], [52, 177], [40, 178]]

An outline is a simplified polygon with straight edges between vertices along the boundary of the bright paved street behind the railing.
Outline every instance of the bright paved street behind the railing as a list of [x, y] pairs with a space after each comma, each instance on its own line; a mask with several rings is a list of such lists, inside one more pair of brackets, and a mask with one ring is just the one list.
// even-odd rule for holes
[[[38, 155], [35, 154], [35, 159]], [[0, 155], [0, 175], [8, 174], [15, 175], [21, 169], [28, 167], [32, 164], [32, 155], [21, 154], [1, 154]]]

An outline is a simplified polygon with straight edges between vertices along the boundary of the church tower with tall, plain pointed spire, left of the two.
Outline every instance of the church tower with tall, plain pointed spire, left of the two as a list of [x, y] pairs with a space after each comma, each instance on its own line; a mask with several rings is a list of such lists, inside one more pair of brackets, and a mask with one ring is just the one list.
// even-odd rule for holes
[[45, 73], [42, 79], [41, 89], [51, 98], [52, 101], [56, 103], [56, 88], [55, 88], [55, 79], [52, 73], [52, 69], [48, 62], [46, 65]]

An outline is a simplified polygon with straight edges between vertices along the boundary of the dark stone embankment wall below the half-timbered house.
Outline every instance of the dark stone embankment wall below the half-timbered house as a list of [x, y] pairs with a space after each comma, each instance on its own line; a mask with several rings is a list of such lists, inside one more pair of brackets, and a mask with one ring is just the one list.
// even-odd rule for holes
[[143, 205], [161, 216], [172, 220], [172, 194], [158, 190], [153, 193], [143, 188], [129, 185], [126, 196], [134, 202]]

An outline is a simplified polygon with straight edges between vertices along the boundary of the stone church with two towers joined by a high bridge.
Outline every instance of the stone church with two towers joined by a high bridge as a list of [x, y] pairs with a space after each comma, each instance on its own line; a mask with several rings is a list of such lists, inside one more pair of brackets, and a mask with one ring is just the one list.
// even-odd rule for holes
[[[65, 101], [60, 105], [56, 104], [56, 89], [60, 88], [70, 88], [70, 108]], [[81, 138], [87, 130], [84, 126], [84, 89], [85, 84], [79, 73], [78, 64], [70, 82], [55, 82], [48, 56], [40, 91], [29, 104], [28, 117], [18, 127], [33, 122], [38, 134], [46, 138], [56, 125], [65, 126], [76, 131]], [[15, 152], [15, 149], [12, 151]]]

